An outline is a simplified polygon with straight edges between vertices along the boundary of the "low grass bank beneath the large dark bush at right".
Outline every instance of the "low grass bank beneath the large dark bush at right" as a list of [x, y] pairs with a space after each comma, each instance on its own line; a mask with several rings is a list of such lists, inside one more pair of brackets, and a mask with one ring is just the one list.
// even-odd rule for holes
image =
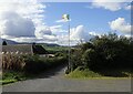
[[127, 70], [104, 70], [101, 72], [93, 72], [89, 69], [81, 70], [80, 67], [75, 69], [73, 72], [66, 74], [69, 79], [122, 79], [131, 77], [133, 72]]

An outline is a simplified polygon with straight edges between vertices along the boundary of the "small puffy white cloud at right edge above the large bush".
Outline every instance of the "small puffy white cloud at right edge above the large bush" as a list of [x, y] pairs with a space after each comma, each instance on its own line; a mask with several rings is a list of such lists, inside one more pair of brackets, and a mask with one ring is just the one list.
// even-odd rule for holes
[[110, 28], [114, 31], [120, 31], [123, 33], [131, 32], [131, 24], [125, 21], [124, 18], [117, 18], [112, 22], [109, 22]]

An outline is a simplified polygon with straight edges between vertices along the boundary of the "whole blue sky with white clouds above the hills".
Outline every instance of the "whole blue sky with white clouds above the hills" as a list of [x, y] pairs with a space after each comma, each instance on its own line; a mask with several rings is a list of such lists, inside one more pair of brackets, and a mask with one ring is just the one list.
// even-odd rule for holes
[[[6, 1], [6, 0], [4, 0]], [[69, 14], [70, 21], [62, 20]], [[0, 35], [17, 42], [71, 45], [94, 35], [130, 36], [131, 3], [92, 0], [92, 2], [39, 2], [14, 0], [0, 2]]]

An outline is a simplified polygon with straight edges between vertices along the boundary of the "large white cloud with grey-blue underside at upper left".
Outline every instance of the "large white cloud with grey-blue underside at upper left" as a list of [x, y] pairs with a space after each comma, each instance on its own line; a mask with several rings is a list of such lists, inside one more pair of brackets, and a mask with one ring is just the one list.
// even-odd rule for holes
[[[1, 34], [13, 36], [34, 35], [35, 21], [42, 17], [42, 7], [35, 0], [8, 1], [0, 3], [0, 28]], [[41, 20], [40, 20], [41, 21]]]

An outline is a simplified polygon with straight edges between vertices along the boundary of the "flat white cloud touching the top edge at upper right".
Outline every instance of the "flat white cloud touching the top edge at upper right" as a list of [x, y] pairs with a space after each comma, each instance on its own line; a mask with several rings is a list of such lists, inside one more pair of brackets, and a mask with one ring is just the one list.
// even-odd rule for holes
[[130, 9], [130, 6], [125, 4], [126, 0], [121, 0], [117, 2], [116, 0], [93, 0], [91, 8], [104, 8], [110, 11], [117, 11], [121, 9]]

